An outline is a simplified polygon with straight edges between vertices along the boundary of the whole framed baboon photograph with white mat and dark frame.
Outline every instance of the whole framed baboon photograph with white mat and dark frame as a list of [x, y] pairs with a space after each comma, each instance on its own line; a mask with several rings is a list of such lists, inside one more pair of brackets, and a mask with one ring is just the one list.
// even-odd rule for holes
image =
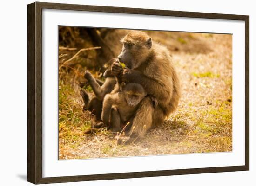
[[249, 170], [249, 16], [27, 12], [29, 182]]

